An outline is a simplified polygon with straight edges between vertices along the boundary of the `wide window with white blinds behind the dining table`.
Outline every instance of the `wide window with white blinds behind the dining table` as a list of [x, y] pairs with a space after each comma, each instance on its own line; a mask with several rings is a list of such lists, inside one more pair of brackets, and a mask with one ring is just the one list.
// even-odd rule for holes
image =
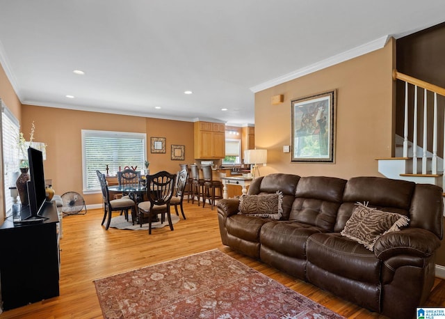
[[83, 192], [100, 190], [96, 171], [115, 175], [125, 166], [145, 169], [147, 136], [143, 133], [82, 130]]

